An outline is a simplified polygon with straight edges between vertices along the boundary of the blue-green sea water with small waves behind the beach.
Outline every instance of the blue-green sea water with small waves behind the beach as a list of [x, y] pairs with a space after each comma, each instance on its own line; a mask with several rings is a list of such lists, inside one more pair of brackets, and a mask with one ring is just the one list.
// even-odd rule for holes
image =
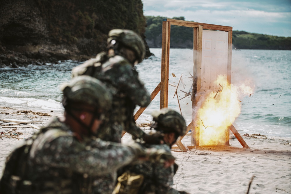
[[[150, 49], [155, 55], [136, 65], [141, 80], [151, 93], [160, 82], [161, 49]], [[32, 111], [61, 113], [62, 94], [59, 86], [70, 80], [76, 61], [60, 64], [0, 68], [0, 106]], [[181, 82], [175, 96], [175, 87], [169, 86], [168, 107], [191, 120], [191, 100], [185, 92], [191, 91], [193, 50], [170, 49], [169, 83]], [[233, 123], [240, 134], [260, 133], [267, 136], [291, 137], [291, 51], [233, 50], [232, 83], [249, 80], [254, 92], [241, 98], [241, 113]], [[182, 91], [181, 91], [182, 90]], [[151, 112], [159, 110], [159, 94], [137, 120], [149, 122]], [[136, 108], [136, 110], [139, 107]]]

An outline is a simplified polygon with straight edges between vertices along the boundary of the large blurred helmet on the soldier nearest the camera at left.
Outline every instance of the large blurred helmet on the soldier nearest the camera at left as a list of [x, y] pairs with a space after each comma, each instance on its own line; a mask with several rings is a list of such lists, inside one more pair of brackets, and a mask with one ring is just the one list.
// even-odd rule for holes
[[64, 83], [60, 89], [63, 91], [65, 108], [69, 102], [88, 104], [103, 112], [111, 108], [111, 93], [101, 81], [91, 76], [77, 76], [70, 83]]

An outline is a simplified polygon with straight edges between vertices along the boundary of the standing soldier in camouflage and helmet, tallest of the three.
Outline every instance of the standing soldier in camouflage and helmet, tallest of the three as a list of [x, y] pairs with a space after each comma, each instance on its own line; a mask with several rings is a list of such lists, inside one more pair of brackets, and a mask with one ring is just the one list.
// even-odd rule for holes
[[160, 140], [145, 134], [133, 119], [136, 105], [146, 107], [150, 103], [150, 96], [134, 68], [145, 56], [143, 40], [131, 30], [113, 29], [108, 35], [107, 54], [102, 52], [72, 70], [72, 77], [93, 76], [106, 83], [113, 92], [109, 122], [112, 126], [103, 126], [98, 137], [120, 142], [122, 131], [125, 130], [135, 138], [157, 143]]

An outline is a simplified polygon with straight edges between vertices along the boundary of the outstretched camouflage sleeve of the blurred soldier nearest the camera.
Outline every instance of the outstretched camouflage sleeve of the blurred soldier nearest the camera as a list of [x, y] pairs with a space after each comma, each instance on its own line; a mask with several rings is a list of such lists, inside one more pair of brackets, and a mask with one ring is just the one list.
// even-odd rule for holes
[[89, 175], [103, 175], [127, 165], [134, 158], [129, 147], [92, 140], [90, 144], [80, 143], [73, 136], [61, 136], [51, 142], [39, 143], [32, 147], [30, 157], [34, 163], [53, 168], [70, 168], [75, 172]]

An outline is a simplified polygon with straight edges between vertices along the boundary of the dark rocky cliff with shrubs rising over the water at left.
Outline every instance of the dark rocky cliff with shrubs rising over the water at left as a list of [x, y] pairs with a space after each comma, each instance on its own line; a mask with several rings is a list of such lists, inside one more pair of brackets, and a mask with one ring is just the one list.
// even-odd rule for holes
[[106, 50], [114, 28], [145, 39], [141, 0], [0, 0], [0, 8], [2, 67], [87, 60]]

